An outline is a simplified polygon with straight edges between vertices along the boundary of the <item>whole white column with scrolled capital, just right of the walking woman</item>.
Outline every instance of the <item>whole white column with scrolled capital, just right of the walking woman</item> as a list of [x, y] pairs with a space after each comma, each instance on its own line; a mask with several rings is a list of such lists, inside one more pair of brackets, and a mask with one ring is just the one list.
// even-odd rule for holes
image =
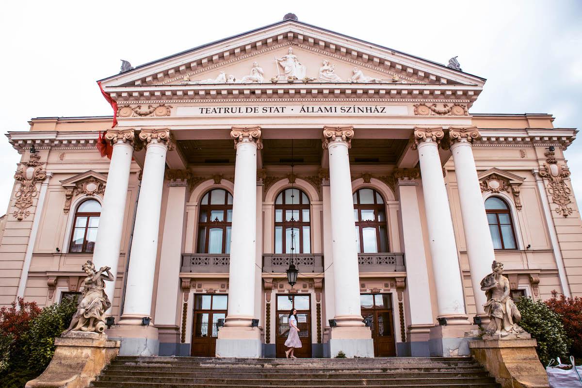
[[342, 350], [347, 357], [374, 357], [370, 329], [360, 309], [360, 277], [352, 176], [348, 149], [353, 127], [324, 127], [324, 148], [329, 153], [331, 240], [336, 328], [330, 334], [331, 357]]

